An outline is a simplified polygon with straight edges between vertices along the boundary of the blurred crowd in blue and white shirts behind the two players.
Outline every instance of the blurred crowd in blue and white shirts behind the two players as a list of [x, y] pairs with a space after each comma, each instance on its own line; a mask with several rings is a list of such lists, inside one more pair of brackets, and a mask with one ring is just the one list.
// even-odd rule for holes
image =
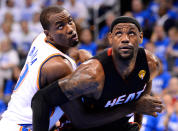
[[110, 47], [107, 33], [116, 17], [135, 17], [144, 33], [140, 46], [154, 53], [162, 65], [152, 82], [152, 95], [165, 103], [158, 117], [144, 116], [141, 130], [178, 130], [178, 0], [130, 0], [131, 9], [122, 13], [127, 8], [122, 0], [1, 0], [0, 115], [7, 109], [31, 43], [43, 31], [40, 12], [49, 5], [63, 6], [71, 13], [80, 38], [77, 48], [92, 55]]

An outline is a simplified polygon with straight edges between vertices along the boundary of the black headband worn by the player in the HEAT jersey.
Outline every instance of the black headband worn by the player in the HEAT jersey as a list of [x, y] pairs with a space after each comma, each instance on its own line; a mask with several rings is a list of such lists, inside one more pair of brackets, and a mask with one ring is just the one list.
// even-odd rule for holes
[[133, 23], [137, 26], [138, 30], [140, 32], [142, 32], [142, 28], [141, 28], [140, 24], [138, 23], [138, 21], [135, 18], [128, 17], [128, 16], [120, 16], [120, 17], [116, 18], [111, 24], [110, 32], [112, 32], [114, 26], [119, 24], [119, 23]]

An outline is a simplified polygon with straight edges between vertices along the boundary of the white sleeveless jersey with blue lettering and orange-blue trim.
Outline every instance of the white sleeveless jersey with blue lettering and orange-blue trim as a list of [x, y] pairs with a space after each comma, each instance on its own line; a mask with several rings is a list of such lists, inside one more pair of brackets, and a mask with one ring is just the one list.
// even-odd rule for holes
[[[50, 43], [45, 42], [45, 38], [45, 34], [41, 33], [32, 43], [25, 65], [8, 104], [8, 109], [2, 115], [3, 119], [7, 118], [17, 124], [32, 124], [31, 100], [39, 90], [40, 70], [47, 60], [54, 56], [63, 56], [69, 60], [73, 70], [76, 69], [74, 60]], [[63, 114], [61, 109], [58, 109], [58, 111], [61, 112], [61, 115]]]

